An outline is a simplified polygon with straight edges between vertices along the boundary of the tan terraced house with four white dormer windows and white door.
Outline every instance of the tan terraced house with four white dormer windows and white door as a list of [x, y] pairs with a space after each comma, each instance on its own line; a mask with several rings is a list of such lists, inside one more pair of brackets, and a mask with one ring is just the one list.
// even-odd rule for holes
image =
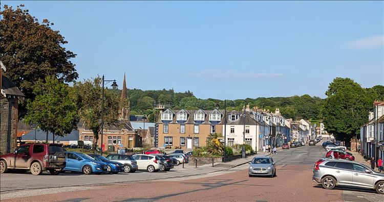
[[178, 110], [162, 112], [156, 123], [155, 146], [195, 148], [206, 146], [210, 134], [223, 134], [224, 112]]

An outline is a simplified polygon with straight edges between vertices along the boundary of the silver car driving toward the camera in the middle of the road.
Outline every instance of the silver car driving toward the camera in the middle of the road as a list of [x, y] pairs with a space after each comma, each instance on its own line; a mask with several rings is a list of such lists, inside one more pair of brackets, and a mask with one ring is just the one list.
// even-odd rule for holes
[[249, 163], [249, 176], [266, 175], [273, 178], [276, 176], [276, 166], [271, 157], [255, 157]]

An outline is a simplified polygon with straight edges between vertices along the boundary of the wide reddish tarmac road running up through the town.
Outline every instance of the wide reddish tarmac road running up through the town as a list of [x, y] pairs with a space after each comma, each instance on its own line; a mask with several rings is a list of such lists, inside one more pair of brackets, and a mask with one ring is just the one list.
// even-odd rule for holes
[[[336, 188], [326, 190], [312, 182], [312, 166], [325, 155], [321, 145], [302, 146], [281, 150], [271, 157], [277, 165], [275, 178], [249, 178], [248, 164], [203, 175], [185, 178], [147, 180], [104, 185], [68, 186], [61, 188], [2, 191], [2, 201], [382, 201], [384, 196], [370, 190]], [[188, 170], [193, 172], [193, 170]], [[177, 172], [177, 171], [175, 171]], [[144, 178], [152, 173], [133, 173], [129, 176]], [[156, 173], [160, 174], [160, 173]], [[170, 175], [172, 173], [162, 173]], [[90, 176], [33, 176], [31, 174], [10, 174], [10, 176], [33, 178], [36, 184], [56, 183], [68, 177], [81, 181]], [[2, 174], [1, 187], [3, 184]], [[31, 177], [30, 177], [31, 176]], [[96, 182], [114, 178], [117, 175], [92, 175]], [[128, 175], [126, 175], [128, 176]], [[41, 177], [57, 179], [41, 181]], [[36, 180], [39, 181], [36, 181]], [[110, 181], [110, 180], [109, 180]], [[29, 182], [29, 181], [28, 181]], [[79, 183], [81, 184], [81, 183]], [[38, 186], [35, 186], [38, 187]]]

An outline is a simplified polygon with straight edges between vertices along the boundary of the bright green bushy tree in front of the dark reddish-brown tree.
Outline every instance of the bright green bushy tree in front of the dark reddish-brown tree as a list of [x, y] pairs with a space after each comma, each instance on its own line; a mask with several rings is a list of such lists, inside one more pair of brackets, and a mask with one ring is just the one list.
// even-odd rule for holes
[[[75, 92], [55, 77], [38, 80], [33, 85], [35, 100], [28, 101], [25, 123], [37, 123], [45, 132], [64, 136], [76, 129], [78, 122]], [[48, 136], [47, 136], [48, 141]]]

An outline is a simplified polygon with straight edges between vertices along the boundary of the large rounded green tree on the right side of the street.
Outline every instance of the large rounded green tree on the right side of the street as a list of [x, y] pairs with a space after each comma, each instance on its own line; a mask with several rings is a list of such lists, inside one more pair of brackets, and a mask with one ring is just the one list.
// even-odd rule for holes
[[322, 107], [326, 130], [348, 143], [367, 121], [373, 97], [349, 78], [334, 79], [326, 94], [328, 97]]

